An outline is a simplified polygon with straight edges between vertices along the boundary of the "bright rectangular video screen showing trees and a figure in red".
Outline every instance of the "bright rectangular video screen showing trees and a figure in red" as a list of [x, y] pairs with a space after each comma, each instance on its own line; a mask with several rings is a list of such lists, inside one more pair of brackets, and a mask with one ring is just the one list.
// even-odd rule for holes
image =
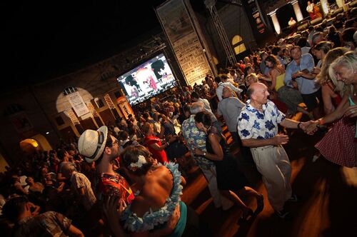
[[164, 54], [119, 76], [118, 81], [131, 106], [176, 86], [176, 79]]

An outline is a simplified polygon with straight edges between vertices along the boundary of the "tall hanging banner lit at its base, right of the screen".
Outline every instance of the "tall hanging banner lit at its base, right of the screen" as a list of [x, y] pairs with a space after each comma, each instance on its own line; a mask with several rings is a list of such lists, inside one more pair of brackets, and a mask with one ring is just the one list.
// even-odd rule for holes
[[169, 42], [174, 49], [187, 84], [201, 84], [207, 74], [213, 75], [205, 50], [183, 0], [169, 0], [156, 8]]

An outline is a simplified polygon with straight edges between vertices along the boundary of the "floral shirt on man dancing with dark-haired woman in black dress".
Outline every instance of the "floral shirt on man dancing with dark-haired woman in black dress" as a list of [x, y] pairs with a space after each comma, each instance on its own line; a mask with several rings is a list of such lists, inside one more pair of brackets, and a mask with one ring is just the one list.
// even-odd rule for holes
[[193, 154], [195, 147], [200, 148], [202, 151], [206, 151], [206, 134], [203, 133], [203, 131], [199, 131], [196, 127], [194, 114], [183, 121], [181, 131], [188, 149], [190, 149], [191, 155], [194, 157], [195, 163], [203, 169], [209, 169], [214, 166], [213, 161], [208, 161], [208, 159], [203, 156], [195, 156]]

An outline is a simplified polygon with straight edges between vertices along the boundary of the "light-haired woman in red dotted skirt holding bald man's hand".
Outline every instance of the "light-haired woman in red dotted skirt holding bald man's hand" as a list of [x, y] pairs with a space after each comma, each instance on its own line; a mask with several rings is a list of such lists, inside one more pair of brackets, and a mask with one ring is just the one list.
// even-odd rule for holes
[[340, 166], [356, 166], [356, 117], [357, 117], [357, 54], [348, 51], [338, 57], [328, 68], [328, 74], [335, 85], [343, 82], [343, 99], [333, 113], [314, 121], [313, 130], [318, 125], [333, 124], [316, 148], [328, 160]]

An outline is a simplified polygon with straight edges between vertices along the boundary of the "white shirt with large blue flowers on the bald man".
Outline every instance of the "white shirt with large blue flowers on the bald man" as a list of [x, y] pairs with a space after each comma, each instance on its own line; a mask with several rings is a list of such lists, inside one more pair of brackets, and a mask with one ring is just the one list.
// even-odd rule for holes
[[238, 134], [241, 139], [268, 139], [278, 134], [278, 123], [285, 119], [285, 114], [269, 101], [263, 104], [263, 113], [255, 109], [248, 100], [238, 116]]

